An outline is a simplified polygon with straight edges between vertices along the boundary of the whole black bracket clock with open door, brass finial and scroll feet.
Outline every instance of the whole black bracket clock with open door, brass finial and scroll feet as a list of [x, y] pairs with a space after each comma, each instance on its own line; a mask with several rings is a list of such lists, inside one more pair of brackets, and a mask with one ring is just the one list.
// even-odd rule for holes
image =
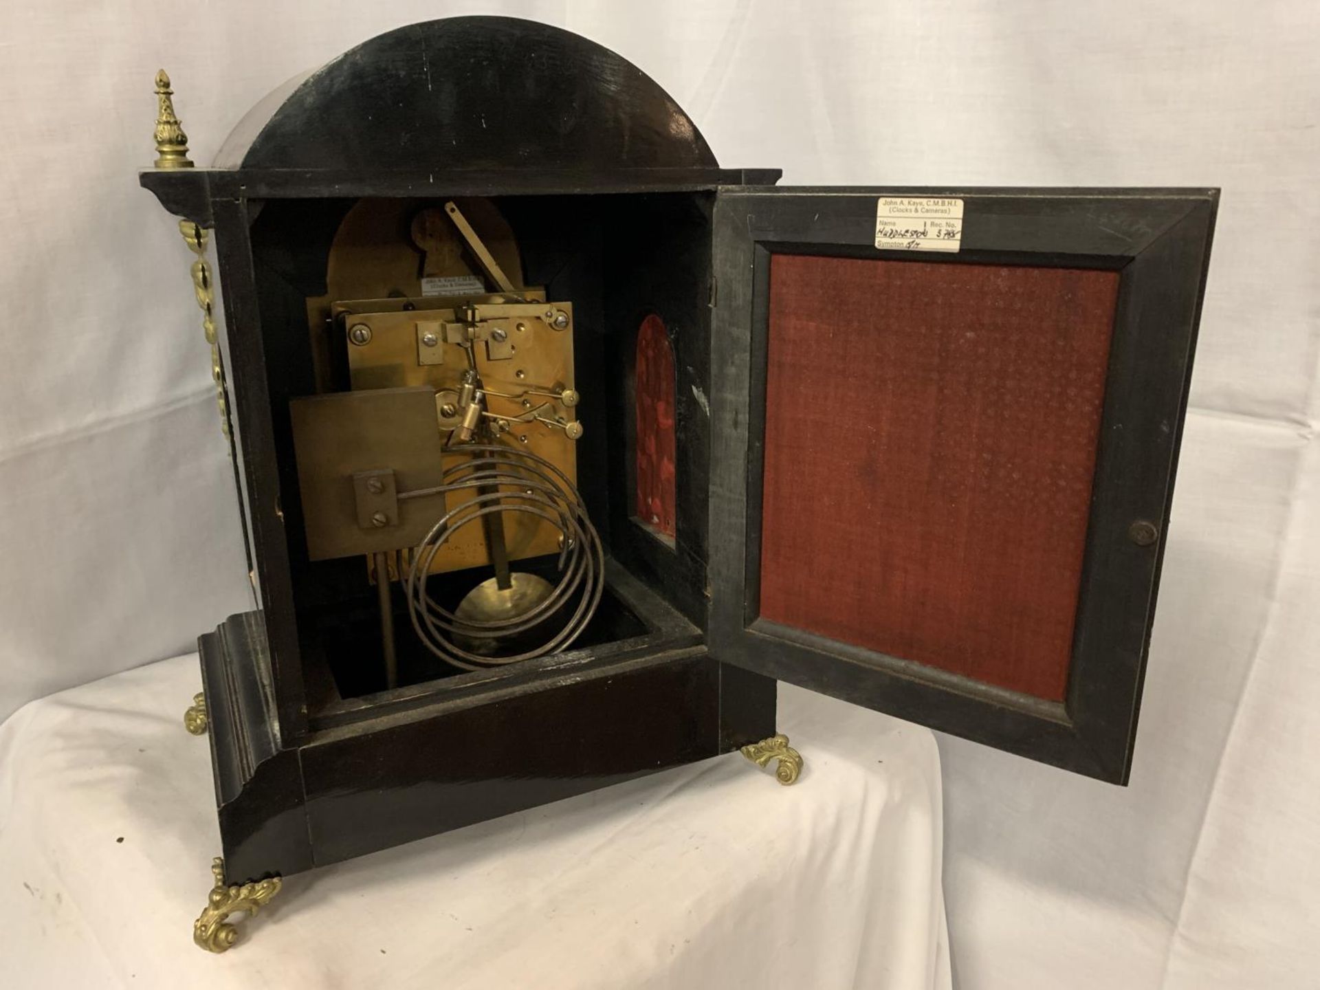
[[792, 783], [779, 680], [1126, 781], [1217, 190], [783, 187], [506, 17], [347, 51], [211, 168], [156, 91], [252, 586], [186, 717], [202, 948], [643, 774]]

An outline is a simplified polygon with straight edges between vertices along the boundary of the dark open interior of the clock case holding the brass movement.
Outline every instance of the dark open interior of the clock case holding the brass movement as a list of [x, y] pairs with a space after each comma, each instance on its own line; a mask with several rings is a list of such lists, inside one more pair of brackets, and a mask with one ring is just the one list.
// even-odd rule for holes
[[[447, 206], [457, 207], [471, 227], [475, 248], [457, 226], [446, 224], [442, 211]], [[630, 649], [700, 643], [706, 602], [711, 206], [711, 193], [280, 199], [261, 206], [251, 228], [252, 256], [298, 647], [313, 717], [393, 700], [400, 692], [447, 689], [519, 671], [597, 663]], [[513, 292], [502, 292], [484, 271], [478, 257], [482, 249], [495, 259]], [[475, 317], [469, 326], [482, 339], [465, 351], [445, 334], [455, 334], [462, 306], [469, 304], [475, 304], [466, 312]], [[537, 312], [533, 323], [521, 315], [531, 312], [528, 305], [545, 305], [546, 313]], [[570, 315], [570, 325], [557, 333], [545, 317], [561, 310]], [[504, 313], [515, 315], [504, 319]], [[412, 317], [417, 319], [397, 331], [399, 319]], [[352, 338], [359, 318], [370, 325], [368, 331], [359, 330], [359, 339], [370, 333], [362, 346]], [[445, 351], [438, 367], [416, 367], [429, 358], [422, 343], [396, 346], [404, 339], [399, 334], [412, 334], [414, 326], [437, 329], [442, 339], [432, 350]], [[516, 341], [517, 352], [496, 362], [490, 348], [500, 329], [510, 334], [502, 343]], [[417, 341], [425, 338], [421, 330], [416, 333]], [[543, 351], [554, 354], [545, 359]], [[500, 495], [484, 507], [500, 506], [487, 515], [503, 519], [503, 553], [513, 585], [507, 602], [494, 587], [495, 554], [484, 519], [469, 520], [429, 565], [409, 549], [413, 540], [403, 543], [408, 527], [393, 525], [393, 511], [387, 512], [381, 529], [397, 528], [399, 545], [384, 558], [352, 552], [364, 545], [362, 537], [371, 541], [380, 535], [371, 533], [370, 525], [358, 528], [363, 520], [351, 517], [351, 475], [395, 469], [387, 480], [399, 494], [417, 488], [414, 480], [425, 475], [409, 474], [411, 462], [391, 453], [401, 436], [418, 433], [416, 396], [405, 392], [420, 391], [418, 385], [436, 389], [441, 425], [425, 440], [437, 444], [434, 450], [428, 447], [436, 463], [461, 465], [482, 457], [475, 450], [465, 453], [453, 417], [442, 414], [441, 399], [461, 388], [469, 352], [475, 355], [471, 363], [486, 392], [483, 422], [471, 441], [500, 447], [492, 457], [506, 473], [488, 486]], [[566, 363], [556, 364], [556, 354], [568, 355]], [[395, 364], [408, 367], [401, 372]], [[569, 389], [576, 393], [572, 407], [562, 400]], [[411, 403], [407, 411], [405, 400]], [[537, 418], [517, 421], [531, 412]], [[565, 429], [574, 422], [581, 430], [576, 438]], [[367, 436], [358, 436], [359, 430]], [[364, 454], [363, 446], [379, 454]], [[528, 477], [540, 482], [529, 480], [525, 490], [510, 483], [521, 453], [564, 471], [553, 475], [562, 499], [578, 500], [599, 539], [598, 557], [578, 565], [589, 574], [535, 623], [516, 622], [519, 611], [527, 611], [516, 595], [523, 581], [543, 591], [554, 589], [574, 566], [565, 564], [564, 543], [557, 539], [564, 533], [553, 525], [573, 512], [556, 500], [557, 508], [546, 513], [554, 520], [517, 515], [520, 503], [531, 502], [523, 495], [531, 496], [533, 484], [540, 492], [553, 474], [529, 462], [540, 474]], [[335, 477], [322, 477], [326, 470]], [[440, 480], [425, 477], [428, 483]], [[462, 480], [461, 473], [453, 477]], [[413, 525], [416, 536], [470, 494], [450, 488], [442, 496], [401, 499], [397, 521], [405, 523], [409, 512], [414, 521], [425, 516], [421, 531]], [[579, 517], [576, 521], [581, 524]], [[582, 558], [593, 556], [581, 529], [569, 525], [565, 532]], [[388, 619], [378, 593], [378, 564], [391, 577]], [[417, 578], [416, 587], [421, 573], [426, 574], [425, 606], [414, 605], [420, 597], [408, 582], [409, 576]], [[591, 597], [591, 582], [599, 598], [579, 610]], [[475, 591], [479, 586], [480, 593]], [[458, 632], [445, 628], [454, 624], [445, 616], [462, 615], [471, 605], [465, 599], [492, 590], [494, 612], [473, 619], [471, 628], [462, 623]], [[487, 594], [478, 605], [490, 601]], [[425, 619], [414, 620], [414, 612], [424, 609], [433, 619], [430, 627]], [[586, 619], [582, 612], [589, 612]], [[510, 618], [515, 622], [508, 635], [484, 640], [462, 635], [463, 630], [483, 632], [483, 622]], [[574, 620], [572, 639], [562, 640]], [[381, 635], [385, 622], [392, 624], [389, 664]], [[557, 645], [537, 653], [557, 638]], [[437, 639], [438, 652], [428, 644]], [[459, 660], [479, 659], [467, 665], [451, 663], [441, 655], [449, 652], [450, 642]], [[524, 660], [502, 663], [527, 653]]]

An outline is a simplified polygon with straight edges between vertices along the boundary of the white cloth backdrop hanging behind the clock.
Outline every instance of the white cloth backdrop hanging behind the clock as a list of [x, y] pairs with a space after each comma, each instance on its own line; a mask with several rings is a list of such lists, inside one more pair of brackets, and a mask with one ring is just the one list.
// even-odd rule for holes
[[[511, 13], [653, 75], [785, 183], [1224, 189], [1133, 784], [941, 738], [962, 987], [1303, 987], [1320, 972], [1320, 5], [1051, 0], [0, 9], [0, 714], [247, 601], [152, 73], [194, 157], [384, 29]], [[5, 896], [13, 896], [5, 891]]]

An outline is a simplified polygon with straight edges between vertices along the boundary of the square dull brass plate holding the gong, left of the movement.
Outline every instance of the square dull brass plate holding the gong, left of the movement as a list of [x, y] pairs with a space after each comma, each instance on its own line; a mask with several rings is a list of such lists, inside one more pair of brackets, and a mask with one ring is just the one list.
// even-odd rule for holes
[[445, 499], [433, 495], [400, 500], [396, 516], [381, 506], [383, 525], [368, 528], [374, 512], [359, 516], [358, 487], [371, 473], [393, 471], [381, 495], [440, 484], [445, 451], [433, 389], [333, 392], [294, 399], [289, 413], [312, 560], [414, 546], [445, 513]]

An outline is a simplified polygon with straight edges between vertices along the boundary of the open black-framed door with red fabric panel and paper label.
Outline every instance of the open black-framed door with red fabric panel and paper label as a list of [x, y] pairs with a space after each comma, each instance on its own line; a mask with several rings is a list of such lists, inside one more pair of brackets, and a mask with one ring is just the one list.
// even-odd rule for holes
[[711, 655], [1126, 783], [1216, 203], [722, 190]]

